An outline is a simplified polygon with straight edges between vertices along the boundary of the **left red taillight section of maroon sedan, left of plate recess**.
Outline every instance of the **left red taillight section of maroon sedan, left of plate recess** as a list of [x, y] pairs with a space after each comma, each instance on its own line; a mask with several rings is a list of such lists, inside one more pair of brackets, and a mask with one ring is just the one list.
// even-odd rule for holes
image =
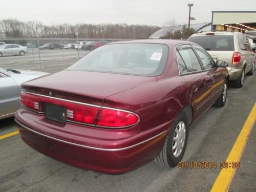
[[36, 112], [43, 112], [42, 103], [37, 99], [37, 96], [22, 92], [20, 100], [27, 108]]

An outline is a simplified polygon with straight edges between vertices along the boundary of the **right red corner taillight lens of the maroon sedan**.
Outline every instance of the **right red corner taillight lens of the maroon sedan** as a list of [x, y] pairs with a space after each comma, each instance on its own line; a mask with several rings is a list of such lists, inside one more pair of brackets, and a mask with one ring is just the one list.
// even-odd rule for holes
[[102, 109], [98, 117], [98, 126], [123, 127], [130, 126], [139, 121], [137, 115], [114, 109]]

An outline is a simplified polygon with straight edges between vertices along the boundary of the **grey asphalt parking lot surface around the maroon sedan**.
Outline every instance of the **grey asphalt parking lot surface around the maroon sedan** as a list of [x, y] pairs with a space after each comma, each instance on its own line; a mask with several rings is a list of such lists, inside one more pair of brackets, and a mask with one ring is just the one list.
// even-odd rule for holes
[[[73, 61], [47, 61], [44, 68], [37, 70], [56, 72]], [[5, 137], [17, 131], [13, 118], [9, 118], [0, 120], [0, 191], [210, 191], [222, 170], [221, 162], [229, 156], [256, 102], [255, 75], [246, 76], [241, 89], [232, 88], [230, 84], [226, 105], [221, 109], [212, 106], [189, 130], [182, 161], [185, 164], [216, 162], [216, 168], [166, 169], [152, 161], [123, 175], [100, 174], [41, 155], [20, 140], [18, 134]], [[230, 191], [256, 191], [255, 138], [254, 124]]]

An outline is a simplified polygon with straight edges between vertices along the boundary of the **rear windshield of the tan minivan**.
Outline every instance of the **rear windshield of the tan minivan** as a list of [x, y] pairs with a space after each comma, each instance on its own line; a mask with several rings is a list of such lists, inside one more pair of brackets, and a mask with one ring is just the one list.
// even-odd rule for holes
[[207, 51], [234, 51], [233, 35], [192, 36], [187, 40]]

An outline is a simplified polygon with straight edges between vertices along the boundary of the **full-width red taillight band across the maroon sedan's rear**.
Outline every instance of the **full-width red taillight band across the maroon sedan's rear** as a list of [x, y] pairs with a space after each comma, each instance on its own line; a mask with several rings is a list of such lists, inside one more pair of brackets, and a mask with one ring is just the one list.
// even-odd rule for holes
[[117, 128], [131, 126], [139, 121], [136, 114], [118, 109], [103, 107], [99, 114], [101, 107], [97, 105], [26, 92], [22, 92], [20, 98], [24, 106], [39, 113], [44, 113], [44, 103], [63, 106], [67, 111], [67, 120], [72, 122], [90, 125], [95, 125], [97, 122], [96, 126]]

